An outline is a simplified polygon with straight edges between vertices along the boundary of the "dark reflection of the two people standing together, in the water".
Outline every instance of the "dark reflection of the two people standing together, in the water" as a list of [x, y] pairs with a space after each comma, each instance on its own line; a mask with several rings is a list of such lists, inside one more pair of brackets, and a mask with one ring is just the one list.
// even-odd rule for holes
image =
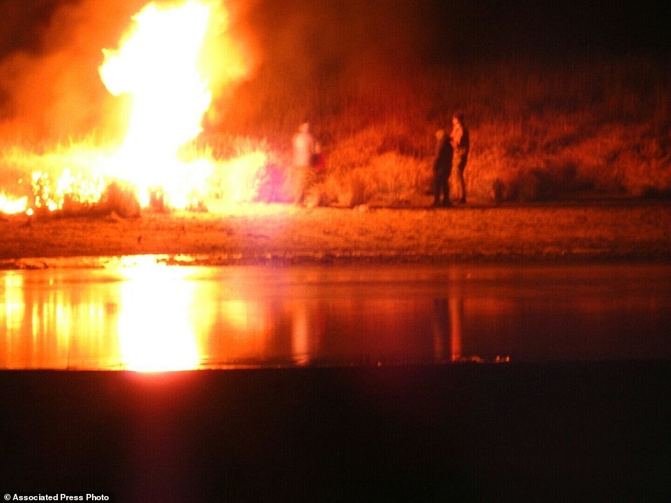
[[[454, 294], [446, 299], [433, 299], [433, 340], [437, 361], [462, 359], [463, 298]], [[448, 345], [449, 341], [449, 354]]]

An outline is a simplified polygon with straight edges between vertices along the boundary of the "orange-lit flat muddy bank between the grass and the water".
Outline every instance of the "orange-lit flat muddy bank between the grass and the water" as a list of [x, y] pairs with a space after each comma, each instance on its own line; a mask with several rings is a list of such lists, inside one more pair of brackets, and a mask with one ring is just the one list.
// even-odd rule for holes
[[[0, 268], [163, 254], [206, 264], [670, 260], [671, 203], [356, 209], [256, 204], [219, 213], [0, 216]], [[182, 255], [189, 255], [184, 257]], [[56, 261], [57, 262], [57, 261]]]

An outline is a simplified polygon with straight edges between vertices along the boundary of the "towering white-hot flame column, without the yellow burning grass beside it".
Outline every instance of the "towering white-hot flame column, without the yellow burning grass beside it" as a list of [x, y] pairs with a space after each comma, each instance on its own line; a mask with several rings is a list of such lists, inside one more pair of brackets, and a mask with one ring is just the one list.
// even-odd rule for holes
[[211, 103], [198, 68], [211, 8], [195, 0], [172, 8], [150, 3], [133, 17], [135, 27], [119, 50], [104, 51], [105, 86], [133, 100], [125, 140], [105, 172], [134, 183], [142, 206], [160, 187], [173, 207], [186, 207], [189, 192], [213, 171], [212, 163], [186, 165], [177, 158], [179, 147], [201, 132]]

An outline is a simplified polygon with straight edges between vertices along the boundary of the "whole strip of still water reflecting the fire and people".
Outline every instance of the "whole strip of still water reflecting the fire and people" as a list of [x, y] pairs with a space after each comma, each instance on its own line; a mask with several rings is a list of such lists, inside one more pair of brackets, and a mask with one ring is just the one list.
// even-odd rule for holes
[[671, 266], [0, 272], [0, 368], [668, 360]]

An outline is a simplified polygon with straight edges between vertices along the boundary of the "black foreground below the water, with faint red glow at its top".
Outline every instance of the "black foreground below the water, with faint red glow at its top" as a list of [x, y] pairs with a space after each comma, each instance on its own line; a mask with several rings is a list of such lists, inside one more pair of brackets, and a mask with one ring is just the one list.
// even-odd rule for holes
[[671, 500], [671, 363], [0, 373], [2, 493]]

